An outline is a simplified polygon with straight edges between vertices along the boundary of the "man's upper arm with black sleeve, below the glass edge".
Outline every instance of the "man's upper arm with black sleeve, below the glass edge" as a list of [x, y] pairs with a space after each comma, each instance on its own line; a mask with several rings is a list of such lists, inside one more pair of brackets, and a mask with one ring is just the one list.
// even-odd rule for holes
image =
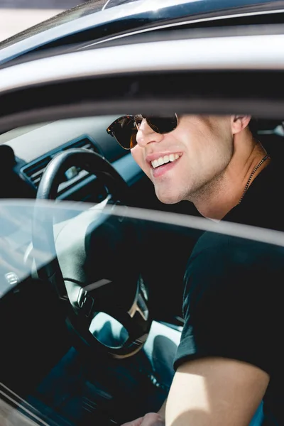
[[256, 242], [204, 234], [201, 243], [185, 274], [185, 327], [165, 424], [248, 426], [275, 368], [278, 293], [267, 283], [283, 273], [261, 261], [273, 257]]

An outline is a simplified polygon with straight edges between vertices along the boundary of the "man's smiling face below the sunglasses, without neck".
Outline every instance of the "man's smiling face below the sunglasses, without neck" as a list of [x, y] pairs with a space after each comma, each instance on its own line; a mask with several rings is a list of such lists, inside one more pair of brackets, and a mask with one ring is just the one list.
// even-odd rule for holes
[[[167, 204], [205, 193], [222, 179], [233, 155], [231, 116], [179, 116], [178, 127], [166, 134], [155, 133], [143, 119], [136, 140], [133, 158]], [[159, 158], [172, 161], [155, 167]]]

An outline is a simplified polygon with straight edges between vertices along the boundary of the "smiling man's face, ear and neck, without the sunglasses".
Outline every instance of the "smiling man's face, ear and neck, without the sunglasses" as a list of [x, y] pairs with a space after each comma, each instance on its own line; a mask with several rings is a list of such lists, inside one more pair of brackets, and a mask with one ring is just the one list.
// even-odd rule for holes
[[[238, 204], [253, 168], [266, 158], [247, 127], [249, 120], [249, 116], [182, 116], [165, 134], [156, 133], [143, 120], [131, 152], [161, 202], [188, 200], [203, 216], [222, 219]], [[266, 158], [250, 183], [268, 162]]]

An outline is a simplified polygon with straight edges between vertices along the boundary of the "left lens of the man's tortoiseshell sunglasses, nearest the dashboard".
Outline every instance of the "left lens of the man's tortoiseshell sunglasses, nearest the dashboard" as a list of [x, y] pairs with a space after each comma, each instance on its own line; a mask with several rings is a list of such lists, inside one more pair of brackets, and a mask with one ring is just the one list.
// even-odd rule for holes
[[133, 117], [120, 117], [120, 119], [117, 119], [114, 124], [112, 124], [111, 131], [122, 148], [131, 149], [136, 146], [137, 128]]

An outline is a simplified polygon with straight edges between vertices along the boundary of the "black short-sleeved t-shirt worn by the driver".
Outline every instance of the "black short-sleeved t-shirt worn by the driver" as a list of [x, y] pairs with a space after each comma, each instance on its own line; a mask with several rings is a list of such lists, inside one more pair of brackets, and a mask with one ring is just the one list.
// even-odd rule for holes
[[[280, 170], [271, 160], [223, 220], [283, 231]], [[268, 372], [267, 426], [284, 425], [283, 285], [283, 247], [205, 232], [187, 263], [185, 326], [174, 364], [222, 356]]]

